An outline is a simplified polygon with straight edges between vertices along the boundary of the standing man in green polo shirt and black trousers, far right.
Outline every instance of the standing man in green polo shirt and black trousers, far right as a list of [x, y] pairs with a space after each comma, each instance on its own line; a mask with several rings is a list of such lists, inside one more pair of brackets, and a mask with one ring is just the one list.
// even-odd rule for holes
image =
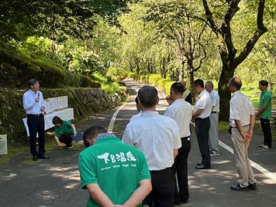
[[272, 143], [272, 135], [270, 129], [270, 118], [271, 118], [271, 94], [267, 90], [268, 81], [259, 81], [259, 90], [262, 91], [259, 97], [259, 108], [256, 117], [261, 120], [262, 130], [264, 132], [264, 144], [260, 145], [259, 148], [262, 150], [270, 150]]

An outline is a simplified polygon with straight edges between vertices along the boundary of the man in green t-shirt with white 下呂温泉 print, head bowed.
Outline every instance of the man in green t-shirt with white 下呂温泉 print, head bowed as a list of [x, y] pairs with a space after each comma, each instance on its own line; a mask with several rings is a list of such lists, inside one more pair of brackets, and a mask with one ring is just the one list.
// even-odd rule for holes
[[152, 190], [143, 152], [100, 126], [88, 128], [83, 143], [79, 172], [81, 188], [90, 194], [86, 206], [141, 206]]

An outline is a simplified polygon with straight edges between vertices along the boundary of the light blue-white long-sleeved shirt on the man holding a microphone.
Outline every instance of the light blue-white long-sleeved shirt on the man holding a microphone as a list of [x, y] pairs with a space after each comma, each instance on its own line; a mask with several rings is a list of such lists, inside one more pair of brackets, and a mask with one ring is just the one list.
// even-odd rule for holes
[[[39, 96], [39, 102], [35, 103], [35, 99]], [[27, 115], [39, 115], [41, 114], [41, 107], [44, 106], [44, 99], [42, 92], [34, 92], [28, 90], [23, 95], [23, 108], [26, 110]]]

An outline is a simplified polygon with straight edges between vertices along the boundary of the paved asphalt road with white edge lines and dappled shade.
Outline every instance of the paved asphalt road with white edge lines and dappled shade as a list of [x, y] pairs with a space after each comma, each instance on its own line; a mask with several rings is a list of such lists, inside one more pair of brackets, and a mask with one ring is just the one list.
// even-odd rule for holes
[[[119, 111], [113, 132], [121, 137], [132, 115], [137, 113], [135, 95], [141, 83], [126, 81], [130, 91], [128, 102]], [[158, 110], [161, 114], [167, 106], [164, 95], [159, 91]], [[85, 130], [89, 126], [108, 127], [116, 110], [93, 115], [77, 126]], [[226, 131], [219, 132], [219, 139], [232, 148]], [[212, 157], [210, 170], [196, 170], [200, 159], [195, 133], [188, 158], [190, 199], [183, 206], [276, 206], [276, 181], [253, 169], [258, 189], [248, 192], [233, 192], [230, 186], [237, 183], [237, 169], [233, 154], [220, 148], [221, 155]], [[258, 150], [262, 136], [255, 135], [250, 144], [249, 157], [260, 166], [276, 175], [276, 150]], [[0, 165], [0, 206], [85, 206], [88, 199], [86, 190], [79, 186], [77, 157], [83, 147], [75, 144], [72, 150], [47, 152], [49, 160], [29, 161], [29, 153], [12, 157], [8, 164]], [[0, 157], [1, 159], [1, 157]], [[112, 178], [111, 178], [112, 179]]]

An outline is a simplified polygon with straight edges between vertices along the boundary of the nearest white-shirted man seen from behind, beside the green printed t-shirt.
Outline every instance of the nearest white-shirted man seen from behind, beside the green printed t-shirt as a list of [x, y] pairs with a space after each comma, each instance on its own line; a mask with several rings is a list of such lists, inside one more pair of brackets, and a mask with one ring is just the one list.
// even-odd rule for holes
[[156, 88], [140, 88], [138, 99], [141, 117], [128, 123], [122, 141], [144, 152], [148, 162], [152, 193], [143, 205], [172, 207], [174, 188], [170, 168], [181, 147], [179, 127], [174, 119], [159, 115], [156, 111], [159, 102]]

